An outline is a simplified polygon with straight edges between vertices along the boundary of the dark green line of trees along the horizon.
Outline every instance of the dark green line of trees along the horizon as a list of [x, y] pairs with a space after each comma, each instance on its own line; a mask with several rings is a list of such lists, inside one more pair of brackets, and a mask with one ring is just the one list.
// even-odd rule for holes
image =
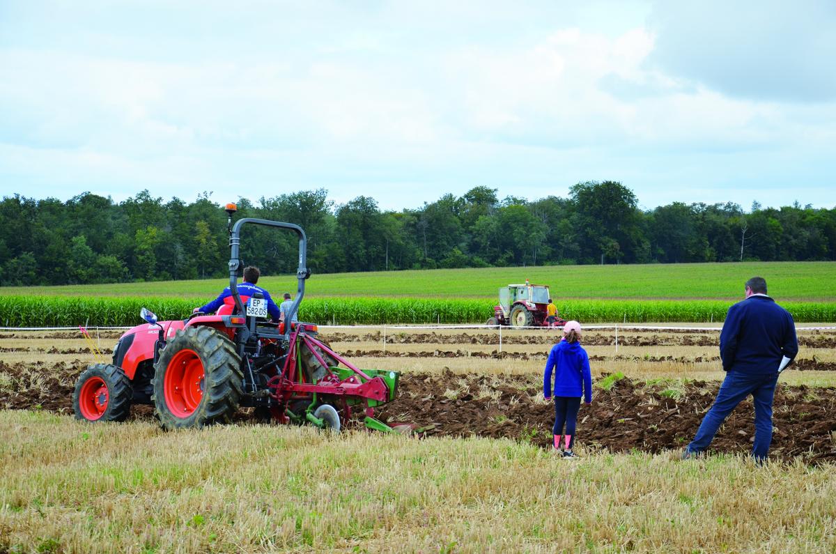
[[[164, 201], [148, 191], [115, 203], [89, 192], [62, 202], [15, 194], [0, 202], [0, 282], [65, 285], [227, 275], [227, 214], [202, 193]], [[239, 198], [236, 218], [297, 223], [314, 273], [546, 264], [645, 264], [836, 259], [836, 208], [750, 210], [736, 203], [639, 208], [619, 182], [581, 182], [568, 197], [529, 201], [474, 187], [421, 208], [344, 204], [324, 189]], [[291, 233], [245, 226], [242, 258], [294, 273]]]

